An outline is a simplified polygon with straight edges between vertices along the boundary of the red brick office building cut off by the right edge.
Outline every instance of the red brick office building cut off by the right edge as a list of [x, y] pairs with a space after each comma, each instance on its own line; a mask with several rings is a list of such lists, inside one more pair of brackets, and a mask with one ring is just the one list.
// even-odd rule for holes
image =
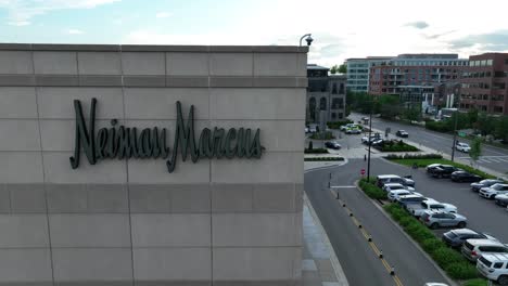
[[471, 55], [460, 82], [460, 108], [508, 115], [508, 53]]

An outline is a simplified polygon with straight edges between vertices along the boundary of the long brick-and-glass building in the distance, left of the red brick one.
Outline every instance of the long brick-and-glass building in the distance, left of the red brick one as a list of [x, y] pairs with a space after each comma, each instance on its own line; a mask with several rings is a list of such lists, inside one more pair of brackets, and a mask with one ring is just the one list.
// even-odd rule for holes
[[370, 67], [369, 93], [397, 93], [398, 86], [437, 86], [457, 81], [468, 60], [457, 54], [399, 54]]

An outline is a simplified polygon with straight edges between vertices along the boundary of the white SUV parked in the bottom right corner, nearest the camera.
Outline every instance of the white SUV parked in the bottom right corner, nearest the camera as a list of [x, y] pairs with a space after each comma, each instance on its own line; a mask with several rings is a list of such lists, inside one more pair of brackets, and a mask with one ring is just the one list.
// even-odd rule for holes
[[478, 271], [499, 285], [508, 285], [508, 253], [486, 253], [477, 261]]

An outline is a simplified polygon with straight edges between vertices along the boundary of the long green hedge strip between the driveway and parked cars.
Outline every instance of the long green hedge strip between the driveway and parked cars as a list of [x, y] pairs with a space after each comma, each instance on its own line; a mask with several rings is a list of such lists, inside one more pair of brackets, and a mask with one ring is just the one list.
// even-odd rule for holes
[[383, 207], [432, 259], [454, 280], [471, 280], [479, 276], [477, 268], [460, 252], [447, 247], [442, 240], [411, 214], [396, 204]]

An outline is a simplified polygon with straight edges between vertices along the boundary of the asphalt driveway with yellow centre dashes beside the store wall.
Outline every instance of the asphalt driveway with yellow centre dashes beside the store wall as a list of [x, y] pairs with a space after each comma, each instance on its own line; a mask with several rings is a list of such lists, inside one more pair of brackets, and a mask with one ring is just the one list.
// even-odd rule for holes
[[[385, 170], [385, 166], [379, 164], [380, 161], [381, 159], [372, 160], [372, 173], [391, 171]], [[382, 210], [357, 188], [352, 187], [358, 179], [358, 171], [365, 167], [364, 160], [353, 159], [341, 167], [305, 174], [305, 192], [330, 238], [350, 285], [418, 286], [427, 282], [446, 283], [434, 264], [382, 213]], [[339, 186], [334, 190], [340, 192], [341, 200], [345, 202], [354, 218], [372, 237], [388, 264], [394, 268], [401, 283], [390, 275], [386, 265], [378, 258], [348, 211], [328, 188], [330, 172], [331, 184]]]

